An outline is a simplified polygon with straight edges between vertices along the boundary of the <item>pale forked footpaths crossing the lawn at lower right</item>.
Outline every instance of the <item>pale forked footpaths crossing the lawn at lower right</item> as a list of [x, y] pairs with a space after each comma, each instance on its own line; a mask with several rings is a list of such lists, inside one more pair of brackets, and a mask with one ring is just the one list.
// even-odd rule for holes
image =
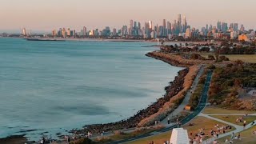
[[[210, 117], [210, 115], [218, 115], [218, 114], [202, 114], [200, 113], [198, 116], [202, 116], [202, 117], [206, 117], [206, 118], [210, 118], [214, 121], [218, 121], [218, 122], [222, 122], [222, 123], [225, 123], [226, 125], [230, 125], [230, 126], [233, 126], [236, 130], [233, 130], [233, 131], [230, 131], [226, 134], [220, 134], [218, 136], [218, 138], [223, 138], [223, 137], [226, 137], [226, 136], [231, 136], [232, 133], [236, 134], [236, 133], [240, 133], [242, 132], [243, 130], [247, 130], [247, 129], [250, 129], [250, 127], [252, 127], [252, 122], [250, 122], [248, 125], [246, 125], [246, 127], [244, 128], [243, 126], [238, 126], [234, 123], [230, 123], [230, 122], [226, 122], [226, 121], [223, 121], [221, 119], [218, 119], [218, 118], [214, 118], [214, 117]], [[224, 114], [221, 114], [221, 115], [224, 115]], [[225, 114], [225, 115], [244, 115], [244, 114]], [[250, 114], [250, 115], [254, 115], [254, 114]], [[209, 144], [209, 143], [212, 143], [214, 142], [214, 140], [218, 139], [218, 138], [209, 138], [209, 139], [206, 139], [206, 141], [203, 142], [203, 144]]]

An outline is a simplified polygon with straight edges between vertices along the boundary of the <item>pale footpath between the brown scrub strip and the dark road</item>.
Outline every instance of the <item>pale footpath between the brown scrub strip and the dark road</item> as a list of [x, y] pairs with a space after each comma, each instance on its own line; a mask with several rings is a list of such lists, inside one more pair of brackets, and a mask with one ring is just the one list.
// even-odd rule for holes
[[[194, 92], [194, 90], [196, 90], [196, 88], [198, 86], [199, 78], [201, 77], [204, 69], [205, 69], [204, 66], [201, 66], [200, 69], [198, 70], [198, 74], [197, 74], [196, 78], [194, 78], [194, 82], [192, 84], [192, 88], [190, 88], [190, 91]], [[184, 107], [190, 102], [191, 95], [192, 95], [192, 93], [187, 92], [185, 98], [183, 99], [182, 103], [178, 106], [178, 108], [176, 108], [171, 114], [169, 114], [165, 119], [163, 119], [160, 122], [160, 124], [162, 124], [163, 126], [171, 126], [171, 124], [168, 125], [168, 123], [167, 123], [168, 118], [171, 119], [174, 116], [177, 116], [178, 114], [180, 114], [184, 110]]]

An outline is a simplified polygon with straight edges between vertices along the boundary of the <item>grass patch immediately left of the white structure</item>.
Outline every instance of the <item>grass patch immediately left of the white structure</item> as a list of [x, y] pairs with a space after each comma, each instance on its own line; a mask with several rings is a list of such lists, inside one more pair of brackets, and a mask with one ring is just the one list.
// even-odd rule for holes
[[170, 141], [170, 136], [171, 136], [171, 131], [168, 131], [163, 134], [154, 135], [149, 138], [143, 138], [143, 139], [139, 139], [137, 141], [129, 142], [129, 143], [130, 144], [144, 144], [144, 143], [147, 144], [150, 141], [154, 141], [154, 143], [156, 144], [162, 144], [163, 142]]

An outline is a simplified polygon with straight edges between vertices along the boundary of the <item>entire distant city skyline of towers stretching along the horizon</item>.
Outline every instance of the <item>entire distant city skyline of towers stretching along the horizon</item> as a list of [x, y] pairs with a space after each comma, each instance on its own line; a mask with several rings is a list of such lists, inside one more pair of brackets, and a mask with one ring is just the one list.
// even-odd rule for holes
[[[3, 33], [3, 37], [9, 36], [9, 34]], [[30, 30], [26, 28], [22, 29], [22, 37], [31, 36]], [[87, 30], [86, 26], [82, 27], [82, 30], [71, 30], [70, 28], [59, 28], [58, 30], [52, 30], [51, 34], [37, 35], [38, 37], [47, 38], [120, 38], [120, 39], [155, 39], [166, 38], [172, 39], [234, 39], [245, 42], [255, 41], [255, 31], [246, 30], [242, 24], [238, 26], [238, 23], [226, 23], [217, 22], [216, 26], [206, 25], [201, 30], [188, 25], [186, 17], [178, 14], [178, 18], [173, 22], [162, 20], [162, 25], [154, 24], [149, 21], [142, 24], [130, 20], [128, 26], [122, 26], [120, 29], [106, 26], [103, 30], [94, 29]]]

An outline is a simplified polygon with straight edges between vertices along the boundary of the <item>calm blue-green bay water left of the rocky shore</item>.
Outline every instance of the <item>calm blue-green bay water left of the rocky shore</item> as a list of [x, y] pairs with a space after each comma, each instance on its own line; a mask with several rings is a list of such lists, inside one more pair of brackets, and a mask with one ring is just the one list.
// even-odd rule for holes
[[0, 138], [54, 137], [146, 108], [182, 70], [146, 57], [149, 45], [0, 38]]

